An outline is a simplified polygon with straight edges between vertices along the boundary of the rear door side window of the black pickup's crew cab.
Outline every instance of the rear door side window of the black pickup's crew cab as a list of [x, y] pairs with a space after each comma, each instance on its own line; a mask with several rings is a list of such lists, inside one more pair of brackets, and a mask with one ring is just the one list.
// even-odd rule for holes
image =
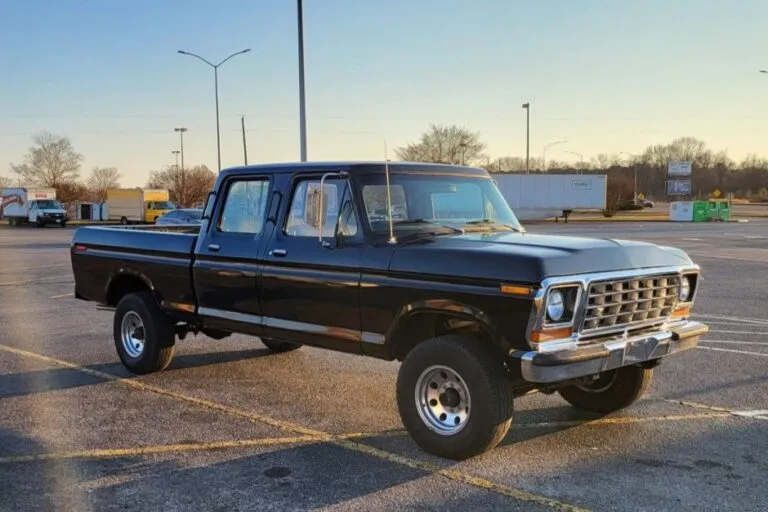
[[223, 233], [257, 235], [264, 226], [269, 180], [234, 181], [227, 189], [218, 229]]

